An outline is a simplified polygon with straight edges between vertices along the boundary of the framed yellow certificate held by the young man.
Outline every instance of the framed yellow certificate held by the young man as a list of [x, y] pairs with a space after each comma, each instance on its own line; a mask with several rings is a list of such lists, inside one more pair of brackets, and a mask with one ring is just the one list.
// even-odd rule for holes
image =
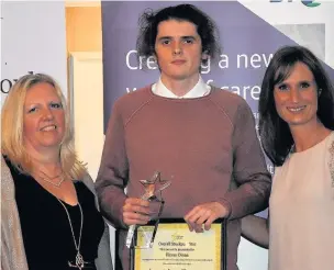
[[147, 238], [154, 226], [138, 226], [132, 250], [134, 270], [225, 270], [226, 222], [218, 220], [210, 230], [190, 232], [183, 220], [159, 221], [152, 247]]

